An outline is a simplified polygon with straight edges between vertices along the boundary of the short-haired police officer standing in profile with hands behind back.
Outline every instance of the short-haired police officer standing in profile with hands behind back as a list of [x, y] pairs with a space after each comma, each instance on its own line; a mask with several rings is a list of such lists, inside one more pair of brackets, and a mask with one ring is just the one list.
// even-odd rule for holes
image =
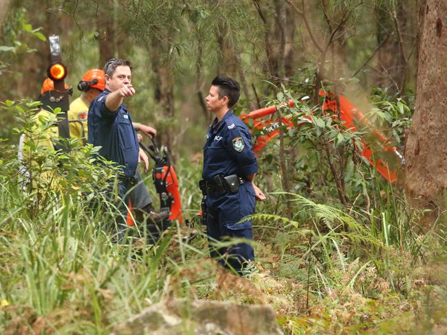
[[204, 146], [204, 167], [200, 189], [204, 194], [204, 219], [210, 255], [239, 274], [254, 260], [250, 244], [237, 242], [219, 247], [228, 238], [253, 239], [252, 221], [255, 200], [265, 200], [254, 185], [258, 163], [252, 150], [250, 132], [230, 108], [239, 100], [239, 84], [228, 77], [212, 80], [206, 106], [216, 115]]

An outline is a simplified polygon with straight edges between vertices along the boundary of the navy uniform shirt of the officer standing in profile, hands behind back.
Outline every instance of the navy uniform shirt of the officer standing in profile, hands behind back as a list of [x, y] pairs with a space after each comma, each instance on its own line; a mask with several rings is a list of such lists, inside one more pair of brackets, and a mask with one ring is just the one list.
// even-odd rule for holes
[[215, 119], [206, 134], [202, 178], [212, 181], [217, 174], [245, 177], [257, 170], [258, 162], [247, 126], [232, 111], [228, 111], [219, 123]]

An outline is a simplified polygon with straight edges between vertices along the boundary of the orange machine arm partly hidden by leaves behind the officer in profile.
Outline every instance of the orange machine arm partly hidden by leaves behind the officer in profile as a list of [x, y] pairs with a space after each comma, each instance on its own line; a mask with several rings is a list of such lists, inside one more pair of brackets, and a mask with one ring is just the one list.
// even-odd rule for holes
[[[334, 118], [338, 117], [338, 106], [340, 106], [342, 125], [347, 128], [347, 130], [353, 132], [359, 130], [359, 128], [362, 129], [369, 126], [368, 119], [364, 117], [358, 108], [356, 108], [356, 106], [354, 106], [345, 96], [341, 94], [335, 96], [334, 94], [325, 91], [320, 91], [320, 95], [324, 97], [323, 110], [331, 111]], [[303, 100], [305, 99], [303, 98]], [[288, 105], [293, 107], [293, 100], [289, 100]], [[261, 131], [261, 135], [257, 137], [253, 146], [255, 153], [258, 153], [268, 142], [279, 135], [279, 126], [281, 123], [287, 129], [312, 123], [312, 116], [308, 118], [303, 117], [298, 123], [294, 123], [292, 117], [289, 115], [282, 116], [280, 122], [280, 119], [277, 116], [276, 106], [261, 108], [248, 114], [242, 114], [240, 117], [246, 124], [252, 119], [253, 128]], [[270, 119], [263, 119], [265, 117], [270, 117]], [[389, 181], [389, 183], [394, 183], [397, 180], [397, 170], [400, 165], [404, 163], [404, 157], [397, 151], [395, 146], [391, 145], [390, 141], [386, 139], [382, 132], [374, 130], [371, 135], [374, 143], [367, 143], [362, 139], [361, 148], [356, 148], [356, 150], [358, 150], [358, 153], [367, 159], [369, 163], [371, 163], [371, 165], [373, 165], [375, 169]], [[374, 154], [372, 146], [375, 145], [378, 145], [380, 150], [384, 152], [384, 157], [378, 158], [377, 156], [379, 155]]]

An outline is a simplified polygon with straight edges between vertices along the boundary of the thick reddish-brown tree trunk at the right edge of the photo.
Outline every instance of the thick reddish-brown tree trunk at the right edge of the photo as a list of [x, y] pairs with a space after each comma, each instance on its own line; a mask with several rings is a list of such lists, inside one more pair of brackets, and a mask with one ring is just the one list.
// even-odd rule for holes
[[415, 115], [406, 142], [405, 188], [415, 205], [444, 209], [443, 192], [447, 187], [447, 2], [428, 0], [424, 12]]

